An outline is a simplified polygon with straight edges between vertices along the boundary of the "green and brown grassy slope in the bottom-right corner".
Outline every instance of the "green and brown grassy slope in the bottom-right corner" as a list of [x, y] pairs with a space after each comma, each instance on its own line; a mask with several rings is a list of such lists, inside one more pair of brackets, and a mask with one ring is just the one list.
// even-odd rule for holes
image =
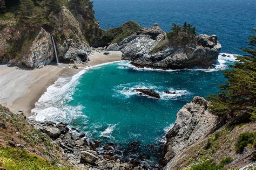
[[[203, 141], [191, 145], [182, 154], [176, 167], [199, 169], [241, 168], [255, 161], [255, 123], [223, 126]], [[250, 137], [247, 137], [250, 134]], [[246, 136], [242, 138], [241, 136]], [[246, 143], [243, 152], [237, 152], [241, 143]]]

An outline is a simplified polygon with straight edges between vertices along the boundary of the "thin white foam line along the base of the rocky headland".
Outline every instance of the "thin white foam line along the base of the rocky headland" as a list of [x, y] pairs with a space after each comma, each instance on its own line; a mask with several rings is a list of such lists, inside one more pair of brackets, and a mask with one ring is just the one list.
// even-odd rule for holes
[[[222, 56], [225, 54], [226, 56]], [[228, 53], [220, 53], [218, 56], [217, 64], [214, 65], [214, 68], [211, 69], [202, 69], [202, 68], [193, 68], [193, 69], [153, 69], [153, 68], [138, 68], [133, 65], [131, 65], [130, 62], [123, 62], [119, 63], [118, 67], [119, 69], [133, 69], [137, 71], [157, 71], [157, 72], [178, 72], [180, 70], [192, 70], [192, 71], [204, 71], [204, 72], [215, 72], [219, 70], [226, 69], [228, 65], [230, 65], [231, 62], [234, 62], [236, 59], [237, 54], [228, 54]]]

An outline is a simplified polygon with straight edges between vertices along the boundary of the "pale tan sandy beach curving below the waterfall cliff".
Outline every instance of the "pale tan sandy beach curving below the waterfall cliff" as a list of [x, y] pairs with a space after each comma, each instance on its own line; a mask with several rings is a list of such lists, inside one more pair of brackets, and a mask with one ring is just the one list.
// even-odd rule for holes
[[79, 69], [72, 69], [68, 64], [62, 63], [41, 69], [0, 65], [0, 104], [12, 112], [23, 112], [30, 116], [35, 102], [59, 77], [71, 77], [84, 67], [119, 61], [121, 56], [121, 52], [110, 52], [109, 55], [95, 52], [89, 56], [90, 60], [86, 64], [78, 65]]

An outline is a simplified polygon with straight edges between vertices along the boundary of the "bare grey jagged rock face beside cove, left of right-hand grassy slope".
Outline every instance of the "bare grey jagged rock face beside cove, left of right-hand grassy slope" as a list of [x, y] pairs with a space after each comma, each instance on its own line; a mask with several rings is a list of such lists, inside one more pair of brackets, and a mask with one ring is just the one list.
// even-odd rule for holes
[[168, 163], [166, 168], [172, 169], [182, 151], [220, 127], [222, 122], [207, 110], [207, 105], [203, 97], [194, 97], [191, 103], [178, 111], [173, 128], [166, 134], [164, 158], [161, 160], [162, 165]]

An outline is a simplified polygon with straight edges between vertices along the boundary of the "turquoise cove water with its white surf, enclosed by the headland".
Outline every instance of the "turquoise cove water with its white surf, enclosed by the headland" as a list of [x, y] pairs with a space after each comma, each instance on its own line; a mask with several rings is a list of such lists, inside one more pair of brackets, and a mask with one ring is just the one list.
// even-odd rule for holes
[[[154, 162], [157, 155], [147, 148], [165, 142], [177, 111], [194, 96], [217, 93], [218, 84], [225, 81], [220, 70], [233, 61], [234, 56], [219, 56], [215, 69], [138, 69], [129, 61], [86, 68], [50, 86], [32, 110], [33, 118], [68, 123], [89, 140], [117, 144], [121, 151], [138, 141]], [[160, 100], [140, 96], [136, 88], [156, 90]]]

